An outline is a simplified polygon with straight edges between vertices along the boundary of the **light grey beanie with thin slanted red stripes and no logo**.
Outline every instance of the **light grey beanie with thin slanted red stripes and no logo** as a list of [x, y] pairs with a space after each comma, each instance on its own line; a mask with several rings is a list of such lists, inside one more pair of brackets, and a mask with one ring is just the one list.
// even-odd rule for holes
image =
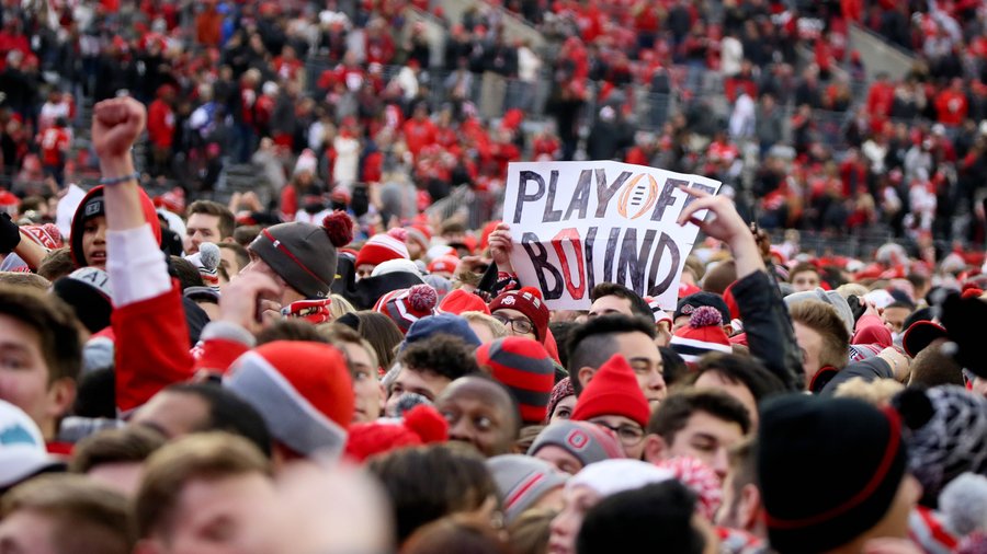
[[495, 455], [487, 469], [497, 483], [507, 523], [533, 507], [543, 496], [566, 484], [568, 475], [548, 462], [523, 454]]

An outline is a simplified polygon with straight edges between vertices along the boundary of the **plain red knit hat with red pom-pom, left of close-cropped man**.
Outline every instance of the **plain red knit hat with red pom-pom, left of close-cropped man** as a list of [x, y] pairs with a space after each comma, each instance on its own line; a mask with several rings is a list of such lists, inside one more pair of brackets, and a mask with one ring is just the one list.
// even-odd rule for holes
[[363, 462], [376, 454], [444, 442], [447, 438], [449, 424], [445, 418], [434, 407], [419, 404], [408, 411], [404, 419], [377, 419], [351, 425], [345, 455]]

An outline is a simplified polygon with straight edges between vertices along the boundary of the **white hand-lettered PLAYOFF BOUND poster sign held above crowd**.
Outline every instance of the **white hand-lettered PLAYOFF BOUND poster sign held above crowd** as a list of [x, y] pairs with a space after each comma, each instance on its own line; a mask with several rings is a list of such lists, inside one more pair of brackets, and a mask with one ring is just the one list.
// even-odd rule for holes
[[[511, 263], [553, 310], [587, 310], [600, 282], [624, 285], [674, 310], [699, 228], [679, 226], [694, 197], [719, 182], [610, 161], [525, 162], [508, 169], [503, 221]], [[705, 211], [699, 212], [700, 219]]]

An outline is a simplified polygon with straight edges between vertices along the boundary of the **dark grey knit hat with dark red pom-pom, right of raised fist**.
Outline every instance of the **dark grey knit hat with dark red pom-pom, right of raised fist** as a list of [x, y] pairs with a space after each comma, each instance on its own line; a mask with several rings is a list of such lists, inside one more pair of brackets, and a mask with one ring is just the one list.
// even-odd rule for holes
[[353, 240], [353, 220], [344, 211], [326, 216], [321, 227], [292, 222], [270, 227], [250, 251], [308, 299], [327, 298], [336, 278], [336, 249]]

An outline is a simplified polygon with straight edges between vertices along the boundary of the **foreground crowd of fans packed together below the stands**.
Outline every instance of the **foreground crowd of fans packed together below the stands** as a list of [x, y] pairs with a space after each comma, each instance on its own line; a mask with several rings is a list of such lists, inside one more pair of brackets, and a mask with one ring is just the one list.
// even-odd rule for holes
[[674, 310], [549, 310], [498, 221], [156, 209], [148, 117], [95, 105], [65, 240], [0, 217], [4, 549], [984, 551], [983, 256], [815, 258], [683, 188]]

